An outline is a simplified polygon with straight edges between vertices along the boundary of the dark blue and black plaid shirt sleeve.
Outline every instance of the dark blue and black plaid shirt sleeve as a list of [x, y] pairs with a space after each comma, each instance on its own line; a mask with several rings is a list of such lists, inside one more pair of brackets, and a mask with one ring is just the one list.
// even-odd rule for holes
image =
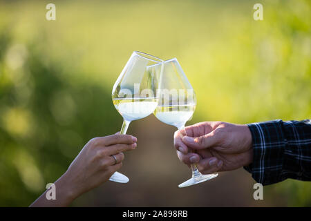
[[311, 181], [311, 120], [281, 119], [247, 124], [252, 133], [253, 162], [245, 166], [263, 185], [287, 178]]

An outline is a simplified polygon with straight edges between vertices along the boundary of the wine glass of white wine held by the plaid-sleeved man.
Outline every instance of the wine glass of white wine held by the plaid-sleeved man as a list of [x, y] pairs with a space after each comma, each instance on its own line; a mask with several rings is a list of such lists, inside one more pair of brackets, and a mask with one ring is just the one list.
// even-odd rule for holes
[[[160, 68], [160, 66], [158, 67]], [[176, 58], [164, 61], [158, 92], [159, 102], [154, 115], [165, 124], [185, 128], [196, 109], [196, 94]], [[216, 174], [203, 175], [191, 164], [192, 177], [178, 187], [186, 187], [211, 180]]]

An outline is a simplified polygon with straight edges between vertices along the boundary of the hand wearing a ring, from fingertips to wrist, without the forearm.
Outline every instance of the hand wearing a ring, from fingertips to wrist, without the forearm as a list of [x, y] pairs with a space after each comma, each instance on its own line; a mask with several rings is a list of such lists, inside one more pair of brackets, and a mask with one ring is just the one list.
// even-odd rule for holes
[[[119, 134], [90, 140], [64, 174], [73, 193], [81, 195], [109, 180], [122, 166], [122, 152], [133, 150], [136, 142], [136, 137]], [[117, 162], [111, 155], [115, 155]]]

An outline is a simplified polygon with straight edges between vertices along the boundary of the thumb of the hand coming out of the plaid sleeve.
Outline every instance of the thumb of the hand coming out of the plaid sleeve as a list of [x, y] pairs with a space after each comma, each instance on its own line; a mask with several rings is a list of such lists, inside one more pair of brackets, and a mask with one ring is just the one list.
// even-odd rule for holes
[[198, 150], [214, 146], [218, 143], [218, 141], [218, 136], [216, 136], [213, 132], [200, 137], [185, 136], [182, 138], [182, 142], [184, 142], [187, 146]]

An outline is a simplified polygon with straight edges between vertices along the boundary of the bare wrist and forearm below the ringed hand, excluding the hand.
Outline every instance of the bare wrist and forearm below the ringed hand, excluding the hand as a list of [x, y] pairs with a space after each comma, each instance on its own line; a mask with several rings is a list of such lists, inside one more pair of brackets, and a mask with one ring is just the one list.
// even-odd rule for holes
[[63, 207], [69, 206], [78, 194], [75, 193], [70, 184], [70, 180], [66, 176], [66, 173], [59, 177], [55, 184], [55, 199], [48, 200], [46, 194], [49, 190], [46, 190], [30, 207]]

